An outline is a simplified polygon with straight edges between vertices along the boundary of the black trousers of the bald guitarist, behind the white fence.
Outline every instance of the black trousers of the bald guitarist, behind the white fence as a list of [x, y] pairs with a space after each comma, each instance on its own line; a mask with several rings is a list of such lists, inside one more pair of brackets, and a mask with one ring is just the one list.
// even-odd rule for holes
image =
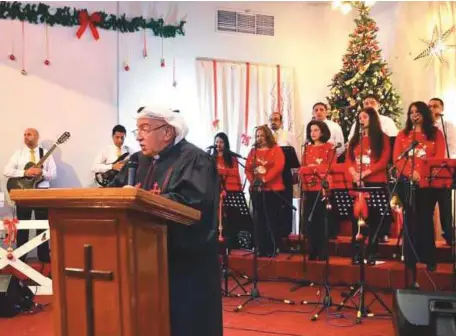
[[[47, 220], [48, 217], [48, 209], [43, 208], [24, 208], [24, 207], [17, 207], [16, 214], [17, 219], [21, 220], [30, 220], [32, 218], [32, 211], [35, 211], [35, 219], [36, 220]], [[37, 234], [40, 234], [46, 230], [36, 230]], [[20, 247], [29, 241], [29, 230], [18, 230], [17, 231], [17, 247]], [[27, 254], [24, 254], [20, 260], [25, 261]], [[38, 246], [38, 259], [41, 262], [50, 262], [51, 258], [49, 255], [49, 241], [41, 244]]]

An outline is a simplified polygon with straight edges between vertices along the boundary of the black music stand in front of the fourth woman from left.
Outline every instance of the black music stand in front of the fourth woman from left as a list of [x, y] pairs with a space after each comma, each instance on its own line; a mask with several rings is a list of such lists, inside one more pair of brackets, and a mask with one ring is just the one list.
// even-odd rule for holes
[[[367, 206], [368, 209], [372, 208], [379, 208], [380, 209], [380, 215], [383, 215], [383, 213], [386, 212], [386, 214], [391, 213], [390, 205], [389, 205], [389, 197], [388, 197], [388, 191], [384, 188], [380, 187], [363, 187], [363, 188], [354, 188], [349, 191], [349, 195], [352, 197], [350, 205], [347, 205], [344, 202], [344, 209], [351, 209], [353, 211], [353, 203], [354, 203], [354, 198], [357, 197], [357, 193], [367, 193], [369, 197], [367, 198]], [[337, 204], [337, 203], [336, 203]], [[369, 221], [369, 219], [368, 219]], [[388, 308], [388, 306], [383, 302], [383, 300], [378, 296], [378, 294], [366, 283], [365, 279], [365, 263], [364, 263], [364, 252], [365, 252], [365, 246], [364, 246], [364, 235], [362, 239], [360, 240], [360, 254], [361, 254], [361, 262], [359, 263], [360, 265], [360, 279], [359, 281], [350, 286], [352, 290], [345, 296], [345, 298], [342, 300], [342, 302], [339, 304], [339, 307], [337, 308], [337, 311], [340, 311], [342, 308], [347, 307], [347, 308], [354, 308], [357, 310], [357, 315], [356, 315], [356, 323], [359, 324], [362, 322], [362, 318], [366, 317], [374, 317], [374, 314], [370, 311], [369, 307], [372, 306], [372, 304], [375, 301], [378, 301], [383, 308], [388, 312], [388, 314], [382, 314], [382, 315], [376, 315], [376, 316], [390, 316], [392, 315], [391, 310]], [[366, 306], [365, 303], [365, 293], [370, 292], [374, 296], [374, 300]], [[359, 305], [355, 304], [355, 307], [350, 307], [346, 306], [345, 303], [350, 300], [353, 302], [354, 296], [359, 293]], [[354, 303], [354, 302], [353, 302]]]

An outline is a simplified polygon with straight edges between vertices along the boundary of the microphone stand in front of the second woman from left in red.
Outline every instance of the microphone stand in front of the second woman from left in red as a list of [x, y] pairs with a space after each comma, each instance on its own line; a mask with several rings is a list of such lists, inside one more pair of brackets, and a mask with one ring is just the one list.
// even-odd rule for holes
[[[255, 171], [256, 171], [256, 155], [257, 155], [257, 144], [254, 144], [254, 154], [253, 154], [253, 174], [254, 174], [254, 183], [253, 183], [253, 192], [252, 192], [252, 198], [255, 198], [254, 202], [254, 207], [253, 207], [253, 243], [254, 243], [254, 253], [253, 253], [253, 264], [252, 264], [252, 279], [249, 282], [252, 282], [253, 287], [250, 290], [250, 295], [247, 300], [242, 302], [240, 305], [238, 305], [235, 309], [234, 312], [239, 312], [241, 309], [243, 309], [249, 302], [251, 301], [259, 301], [260, 299], [266, 299], [268, 301], [274, 301], [274, 302], [282, 302], [286, 304], [294, 304], [294, 301], [286, 300], [286, 299], [277, 299], [277, 298], [272, 298], [272, 297], [266, 297], [262, 296], [260, 293], [260, 290], [258, 289], [258, 249], [259, 249], [259, 242], [258, 242], [258, 206], [259, 206], [259, 201], [260, 197], [263, 198], [263, 211], [264, 209], [264, 190], [263, 190], [263, 182], [258, 179], [257, 176], [255, 176]], [[253, 201], [253, 200], [252, 200]], [[265, 223], [264, 223], [265, 224]]]

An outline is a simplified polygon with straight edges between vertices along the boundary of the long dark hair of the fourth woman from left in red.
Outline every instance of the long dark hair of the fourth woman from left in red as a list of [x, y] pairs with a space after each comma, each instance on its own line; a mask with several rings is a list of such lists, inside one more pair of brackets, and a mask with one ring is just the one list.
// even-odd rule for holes
[[366, 107], [363, 108], [361, 111], [359, 111], [358, 115], [356, 116], [356, 126], [355, 126], [355, 134], [353, 134], [353, 137], [350, 140], [350, 144], [348, 146], [348, 152], [350, 155], [350, 158], [352, 160], [355, 160], [355, 147], [359, 144], [360, 142], [360, 134], [359, 134], [359, 115], [361, 113], [367, 113], [369, 116], [369, 126], [368, 126], [368, 131], [369, 131], [369, 140], [371, 143], [371, 148], [372, 148], [372, 153], [374, 154], [375, 159], [379, 159], [380, 156], [382, 155], [383, 151], [383, 131], [382, 131], [382, 126], [380, 125], [380, 118], [378, 117], [377, 112], [375, 109], [372, 107]]

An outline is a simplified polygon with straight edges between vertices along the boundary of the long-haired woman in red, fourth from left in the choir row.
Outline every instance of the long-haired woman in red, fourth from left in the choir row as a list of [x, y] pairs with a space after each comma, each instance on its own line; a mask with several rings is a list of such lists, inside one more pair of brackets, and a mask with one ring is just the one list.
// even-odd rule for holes
[[[350, 178], [353, 179], [354, 185], [359, 187], [380, 187], [387, 190], [387, 167], [390, 156], [389, 138], [382, 131], [377, 112], [371, 107], [362, 109], [356, 118], [355, 133], [350, 140], [346, 155], [347, 172]], [[373, 238], [382, 220], [382, 210], [380, 207], [371, 207], [369, 209], [369, 217], [367, 219], [369, 244], [366, 249], [368, 265], [375, 265], [378, 237], [375, 241], [373, 241]], [[390, 220], [390, 218], [384, 218], [383, 220]], [[356, 242], [357, 218], [353, 218], [352, 223], [352, 244], [354, 248], [352, 263], [358, 264], [361, 262], [361, 256], [359, 245]]]

